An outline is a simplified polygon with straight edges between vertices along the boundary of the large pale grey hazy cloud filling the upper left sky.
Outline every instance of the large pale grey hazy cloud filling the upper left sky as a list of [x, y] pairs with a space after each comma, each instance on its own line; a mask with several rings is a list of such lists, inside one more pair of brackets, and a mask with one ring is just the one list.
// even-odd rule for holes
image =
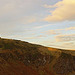
[[26, 32], [29, 24], [37, 21], [34, 13], [38, 10], [38, 2], [40, 4], [38, 0], [0, 0], [0, 34]]

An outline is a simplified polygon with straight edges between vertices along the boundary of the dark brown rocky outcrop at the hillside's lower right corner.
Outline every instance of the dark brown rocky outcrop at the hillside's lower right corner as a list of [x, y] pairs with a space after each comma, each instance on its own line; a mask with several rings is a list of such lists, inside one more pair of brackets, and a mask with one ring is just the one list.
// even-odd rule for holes
[[75, 71], [75, 56], [62, 52], [53, 67], [57, 74], [73, 72]]

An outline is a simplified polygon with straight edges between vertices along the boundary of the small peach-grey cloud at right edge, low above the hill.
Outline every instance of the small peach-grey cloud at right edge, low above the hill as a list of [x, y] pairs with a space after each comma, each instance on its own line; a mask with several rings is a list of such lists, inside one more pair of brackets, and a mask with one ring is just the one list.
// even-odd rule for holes
[[57, 35], [55, 38], [57, 42], [75, 41], [75, 34]]

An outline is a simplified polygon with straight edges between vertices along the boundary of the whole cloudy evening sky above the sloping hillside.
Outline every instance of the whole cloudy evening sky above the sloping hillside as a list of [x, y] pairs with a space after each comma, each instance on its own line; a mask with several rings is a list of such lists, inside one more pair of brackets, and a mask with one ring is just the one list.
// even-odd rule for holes
[[75, 0], [0, 0], [0, 37], [75, 50]]

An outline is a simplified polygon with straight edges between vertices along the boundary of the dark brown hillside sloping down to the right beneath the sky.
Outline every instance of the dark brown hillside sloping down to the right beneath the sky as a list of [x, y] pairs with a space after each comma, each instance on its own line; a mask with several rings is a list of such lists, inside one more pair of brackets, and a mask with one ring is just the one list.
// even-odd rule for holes
[[75, 51], [0, 38], [0, 75], [75, 75]]

